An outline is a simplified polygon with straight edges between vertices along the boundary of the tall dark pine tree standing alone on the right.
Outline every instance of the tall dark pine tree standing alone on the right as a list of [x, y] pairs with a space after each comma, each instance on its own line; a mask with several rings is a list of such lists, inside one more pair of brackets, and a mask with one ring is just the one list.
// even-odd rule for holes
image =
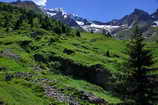
[[[144, 38], [138, 27], [129, 43], [129, 58], [125, 69], [127, 78], [123, 78], [125, 101], [132, 100], [134, 105], [156, 105], [156, 76], [149, 75], [154, 64], [151, 51], [145, 48]], [[128, 103], [128, 102], [127, 102]]]

